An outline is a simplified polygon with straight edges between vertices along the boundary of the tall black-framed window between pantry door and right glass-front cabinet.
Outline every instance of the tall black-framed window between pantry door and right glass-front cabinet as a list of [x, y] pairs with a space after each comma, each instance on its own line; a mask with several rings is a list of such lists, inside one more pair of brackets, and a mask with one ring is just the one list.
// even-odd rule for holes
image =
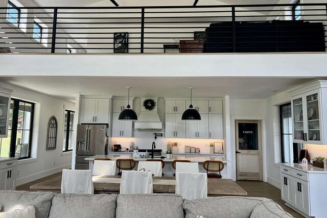
[[282, 162], [297, 163], [302, 144], [293, 143], [291, 103], [279, 106], [281, 118]]

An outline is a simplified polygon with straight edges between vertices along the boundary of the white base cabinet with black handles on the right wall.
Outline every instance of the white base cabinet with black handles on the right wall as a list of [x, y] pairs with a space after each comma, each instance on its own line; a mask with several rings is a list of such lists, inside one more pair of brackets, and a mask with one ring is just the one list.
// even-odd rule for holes
[[281, 194], [287, 206], [306, 217], [326, 217], [327, 171], [311, 165], [281, 164]]

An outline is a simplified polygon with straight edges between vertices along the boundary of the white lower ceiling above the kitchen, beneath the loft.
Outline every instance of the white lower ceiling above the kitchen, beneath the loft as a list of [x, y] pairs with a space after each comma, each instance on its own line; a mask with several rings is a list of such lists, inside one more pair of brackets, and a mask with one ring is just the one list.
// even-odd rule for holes
[[[187, 97], [230, 95], [231, 99], [265, 99], [314, 78], [150, 78], [150, 77], [0, 77], [0, 81], [74, 102], [75, 94]], [[277, 92], [274, 92], [277, 90]], [[149, 94], [154, 92], [154, 94]], [[14, 94], [13, 94], [14, 95]]]

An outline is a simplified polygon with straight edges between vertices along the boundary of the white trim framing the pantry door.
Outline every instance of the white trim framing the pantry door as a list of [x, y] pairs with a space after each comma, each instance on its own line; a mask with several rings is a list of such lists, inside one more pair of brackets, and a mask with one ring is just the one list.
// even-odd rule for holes
[[235, 140], [235, 120], [237, 119], [246, 119], [246, 120], [261, 120], [262, 122], [262, 163], [263, 163], [263, 179], [264, 182], [267, 182], [267, 148], [266, 148], [266, 120], [265, 116], [263, 115], [231, 115], [231, 146], [230, 146], [230, 152], [231, 152], [231, 163], [232, 163], [232, 175], [231, 178], [235, 181], [236, 180], [236, 140]]

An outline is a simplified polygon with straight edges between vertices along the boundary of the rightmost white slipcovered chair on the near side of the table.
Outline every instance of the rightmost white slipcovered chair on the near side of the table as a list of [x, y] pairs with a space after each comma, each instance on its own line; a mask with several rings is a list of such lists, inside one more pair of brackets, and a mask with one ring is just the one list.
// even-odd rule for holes
[[183, 199], [207, 198], [208, 179], [205, 173], [176, 173], [175, 193]]

